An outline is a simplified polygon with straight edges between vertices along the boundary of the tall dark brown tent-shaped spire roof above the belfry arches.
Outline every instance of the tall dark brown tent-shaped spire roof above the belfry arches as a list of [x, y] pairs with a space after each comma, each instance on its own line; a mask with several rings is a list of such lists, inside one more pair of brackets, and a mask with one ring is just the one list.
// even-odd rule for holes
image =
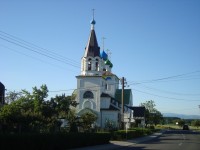
[[100, 47], [98, 46], [97, 38], [94, 29], [90, 31], [89, 40], [85, 48], [84, 57], [100, 57]]

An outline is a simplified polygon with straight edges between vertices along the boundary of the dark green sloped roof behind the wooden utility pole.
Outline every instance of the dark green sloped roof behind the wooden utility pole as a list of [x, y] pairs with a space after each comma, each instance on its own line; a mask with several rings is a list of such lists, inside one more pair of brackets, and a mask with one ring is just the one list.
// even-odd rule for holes
[[[124, 105], [130, 104], [131, 89], [124, 89]], [[115, 99], [121, 104], [122, 101], [122, 89], [117, 89], [115, 92]]]

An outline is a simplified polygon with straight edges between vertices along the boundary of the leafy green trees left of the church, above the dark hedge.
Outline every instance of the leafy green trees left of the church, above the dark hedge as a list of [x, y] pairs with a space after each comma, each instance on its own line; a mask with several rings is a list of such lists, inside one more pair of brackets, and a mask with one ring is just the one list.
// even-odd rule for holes
[[[72, 96], [56, 95], [47, 99], [48, 88], [33, 87], [32, 92], [6, 93], [6, 104], [0, 106], [0, 132], [2, 133], [52, 133], [61, 130], [61, 119], [68, 121], [68, 130], [77, 132], [77, 124], [86, 131], [97, 119], [90, 113], [79, 118], [73, 109], [78, 105]], [[89, 120], [89, 121], [88, 121]]]

